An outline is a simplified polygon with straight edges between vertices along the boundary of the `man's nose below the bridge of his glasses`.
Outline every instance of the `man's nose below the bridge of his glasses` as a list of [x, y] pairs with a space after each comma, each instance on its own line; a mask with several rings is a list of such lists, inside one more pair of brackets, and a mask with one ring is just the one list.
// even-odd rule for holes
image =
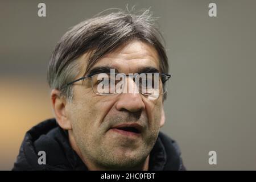
[[[127, 86], [129, 86], [129, 88]], [[119, 98], [116, 104], [117, 110], [137, 112], [145, 108], [142, 96], [139, 93], [138, 87], [133, 81], [133, 78], [127, 78], [127, 82], [123, 89], [127, 92], [119, 94]]]

